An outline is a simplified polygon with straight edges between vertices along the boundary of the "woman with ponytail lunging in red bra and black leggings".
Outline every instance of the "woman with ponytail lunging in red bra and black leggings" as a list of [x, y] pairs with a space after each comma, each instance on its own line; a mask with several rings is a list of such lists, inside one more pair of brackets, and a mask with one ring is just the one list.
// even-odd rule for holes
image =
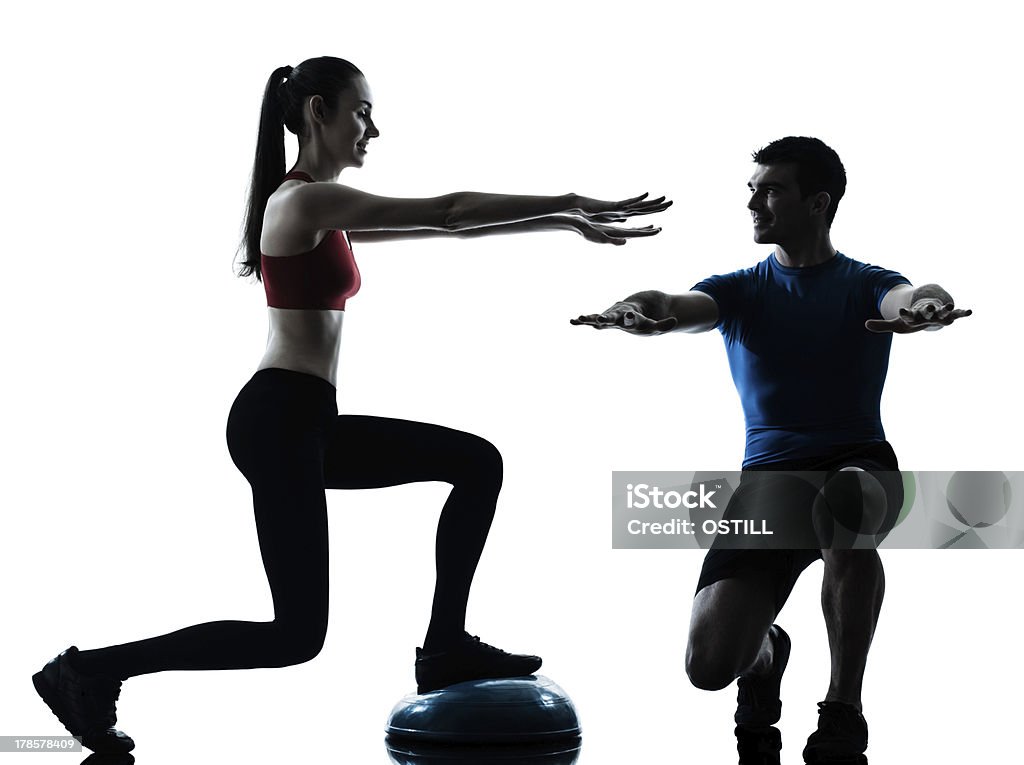
[[[350, 242], [571, 228], [624, 244], [658, 229], [607, 225], [671, 203], [600, 202], [573, 195], [474, 193], [387, 199], [334, 181], [359, 167], [380, 135], [362, 74], [322, 57], [270, 76], [263, 96], [241, 272], [266, 289], [270, 332], [258, 370], [231, 407], [231, 459], [252, 485], [260, 550], [273, 597], [267, 623], [213, 622], [137, 642], [72, 646], [33, 676], [65, 726], [96, 752], [127, 752], [113, 726], [121, 681], [164, 670], [285, 667], [307, 662], [328, 624], [325, 488], [445, 481], [437, 525], [430, 624], [417, 649], [420, 692], [477, 678], [528, 675], [531, 655], [506, 653], [465, 632], [466, 601], [494, 516], [502, 460], [487, 441], [436, 425], [338, 416], [338, 350], [345, 301], [359, 287]], [[285, 173], [284, 127], [299, 139]], [[346, 239], [345, 231], [348, 232]]]

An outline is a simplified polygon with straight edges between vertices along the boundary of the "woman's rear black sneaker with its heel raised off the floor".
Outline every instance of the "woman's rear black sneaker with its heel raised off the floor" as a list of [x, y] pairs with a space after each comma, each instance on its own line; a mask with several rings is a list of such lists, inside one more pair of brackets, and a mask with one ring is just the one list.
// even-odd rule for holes
[[[74, 645], [51, 658], [32, 676], [32, 684], [46, 706], [83, 747], [103, 754], [122, 754], [135, 741], [114, 729], [118, 716], [114, 703], [121, 693], [121, 681], [103, 675], [83, 675], [71, 663]], [[69, 661], [70, 660], [70, 661]]]

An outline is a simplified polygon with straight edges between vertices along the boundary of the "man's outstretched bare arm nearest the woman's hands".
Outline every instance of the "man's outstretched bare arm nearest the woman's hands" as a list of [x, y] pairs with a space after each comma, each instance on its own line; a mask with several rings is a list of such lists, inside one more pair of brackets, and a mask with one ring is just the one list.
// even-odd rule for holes
[[707, 332], [718, 324], [718, 303], [710, 295], [691, 290], [668, 295], [656, 290], [630, 295], [602, 313], [570, 318], [571, 325], [597, 330], [615, 328], [634, 335], [664, 332]]

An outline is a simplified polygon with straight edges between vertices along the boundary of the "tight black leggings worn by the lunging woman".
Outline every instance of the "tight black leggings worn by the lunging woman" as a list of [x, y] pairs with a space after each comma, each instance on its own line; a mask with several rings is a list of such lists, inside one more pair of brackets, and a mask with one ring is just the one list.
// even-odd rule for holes
[[209, 622], [168, 635], [81, 651], [80, 669], [125, 679], [164, 670], [286, 667], [324, 645], [328, 624], [325, 488], [444, 481], [437, 582], [425, 647], [462, 635], [469, 588], [502, 484], [502, 458], [469, 433], [406, 420], [338, 416], [326, 380], [257, 372], [227, 419], [231, 459], [253, 492], [272, 622]]

